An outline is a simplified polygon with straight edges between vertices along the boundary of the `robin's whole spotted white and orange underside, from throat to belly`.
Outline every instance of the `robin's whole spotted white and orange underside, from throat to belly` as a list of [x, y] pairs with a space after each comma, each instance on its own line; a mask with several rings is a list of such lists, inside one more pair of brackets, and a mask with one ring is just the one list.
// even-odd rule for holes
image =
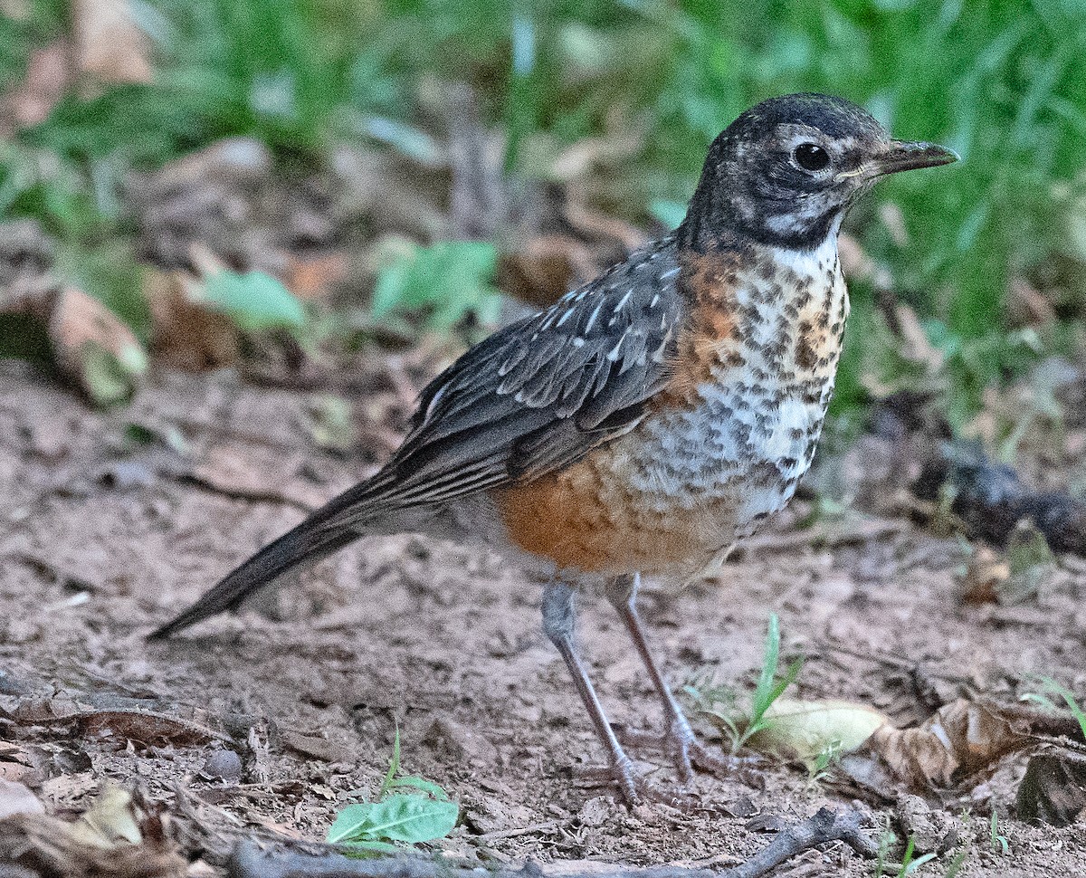
[[648, 303], [685, 314], [651, 416], [493, 496], [512, 541], [559, 568], [695, 573], [781, 510], [815, 454], [848, 314], [835, 229], [801, 251], [668, 242], [653, 268]]

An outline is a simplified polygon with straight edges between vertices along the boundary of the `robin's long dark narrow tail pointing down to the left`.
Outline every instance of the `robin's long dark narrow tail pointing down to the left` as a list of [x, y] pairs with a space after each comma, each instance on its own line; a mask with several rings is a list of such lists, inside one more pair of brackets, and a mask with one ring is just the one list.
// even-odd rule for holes
[[313, 513], [275, 542], [265, 545], [251, 559], [227, 574], [204, 592], [192, 606], [156, 628], [148, 640], [164, 640], [190, 625], [236, 610], [250, 594], [305, 564], [315, 564], [332, 552], [368, 532], [362, 526], [372, 511], [377, 479], [355, 486], [328, 505]]

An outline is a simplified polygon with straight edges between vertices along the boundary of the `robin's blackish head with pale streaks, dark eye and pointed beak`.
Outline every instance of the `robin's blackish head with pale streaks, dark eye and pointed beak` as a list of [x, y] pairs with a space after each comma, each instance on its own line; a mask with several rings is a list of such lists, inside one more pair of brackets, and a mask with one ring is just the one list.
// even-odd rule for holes
[[681, 231], [695, 244], [732, 233], [813, 248], [836, 233], [848, 208], [880, 177], [957, 159], [946, 147], [894, 140], [870, 113], [842, 98], [771, 98], [714, 141]]

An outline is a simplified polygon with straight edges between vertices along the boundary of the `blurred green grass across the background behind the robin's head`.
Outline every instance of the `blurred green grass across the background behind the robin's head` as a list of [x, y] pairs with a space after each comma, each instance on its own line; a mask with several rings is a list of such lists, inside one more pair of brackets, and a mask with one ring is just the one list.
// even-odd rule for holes
[[[955, 423], [975, 411], [983, 387], [1071, 338], [1053, 331], [1022, 344], [1011, 335], [1011, 278], [1058, 286], [1064, 317], [1079, 316], [1086, 301], [1082, 0], [140, 0], [134, 8], [154, 45], [155, 81], [73, 93], [23, 131], [18, 149], [50, 152], [56, 173], [35, 189], [18, 161], [3, 156], [0, 215], [43, 216], [86, 246], [115, 217], [110, 183], [126, 167], [161, 164], [228, 135], [256, 136], [281, 160], [319, 160], [344, 138], [409, 150], [425, 141], [412, 126], [425, 116], [425, 84], [439, 77], [470, 86], [485, 121], [505, 130], [510, 172], [538, 174], [533, 155], [588, 137], [633, 143], [602, 190], [603, 206], [636, 222], [674, 222], [721, 128], [762, 98], [815, 90], [864, 104], [899, 137], [962, 155], [937, 173], [882, 184], [849, 225], [946, 354]], [[30, 47], [63, 17], [56, 0], [31, 0], [31, 10], [0, 24], [0, 83], [18, 75]], [[81, 187], [73, 188], [73, 175]], [[901, 224], [881, 218], [887, 205], [899, 208]], [[430, 292], [422, 299], [432, 304], [463, 290]], [[879, 321], [871, 293], [854, 285], [838, 411], [864, 398], [861, 340]]]

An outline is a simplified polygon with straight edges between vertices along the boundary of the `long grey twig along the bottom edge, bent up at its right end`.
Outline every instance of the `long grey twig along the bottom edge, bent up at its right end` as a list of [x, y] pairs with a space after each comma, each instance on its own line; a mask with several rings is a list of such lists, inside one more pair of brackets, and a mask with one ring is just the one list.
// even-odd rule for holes
[[[843, 841], [860, 856], [871, 858], [879, 848], [863, 835], [861, 819], [858, 811], [835, 812], [824, 807], [803, 823], [785, 826], [746, 863], [723, 871], [657, 866], [616, 868], [591, 875], [563, 873], [563, 878], [759, 878], [796, 854], [830, 841]], [[264, 851], [252, 841], [243, 841], [233, 850], [228, 874], [230, 878], [478, 878], [479, 871], [419, 856], [351, 860], [338, 853]], [[519, 869], [489, 871], [488, 878], [545, 878], [546, 875], [539, 865], [528, 864]]]

